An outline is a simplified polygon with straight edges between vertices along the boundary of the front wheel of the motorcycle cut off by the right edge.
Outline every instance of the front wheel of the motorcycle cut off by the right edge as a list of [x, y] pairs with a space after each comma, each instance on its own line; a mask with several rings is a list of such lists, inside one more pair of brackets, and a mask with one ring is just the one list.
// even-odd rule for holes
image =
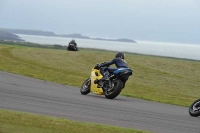
[[194, 101], [189, 107], [189, 114], [191, 116], [200, 116], [200, 99]]

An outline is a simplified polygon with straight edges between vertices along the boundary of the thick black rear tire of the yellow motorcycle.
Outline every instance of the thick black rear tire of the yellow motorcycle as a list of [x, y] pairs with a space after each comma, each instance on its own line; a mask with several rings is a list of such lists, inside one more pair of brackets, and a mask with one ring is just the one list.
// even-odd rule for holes
[[112, 84], [113, 87], [111, 89], [105, 90], [105, 97], [107, 99], [114, 99], [122, 91], [123, 83], [121, 82], [121, 80], [115, 80], [112, 82]]

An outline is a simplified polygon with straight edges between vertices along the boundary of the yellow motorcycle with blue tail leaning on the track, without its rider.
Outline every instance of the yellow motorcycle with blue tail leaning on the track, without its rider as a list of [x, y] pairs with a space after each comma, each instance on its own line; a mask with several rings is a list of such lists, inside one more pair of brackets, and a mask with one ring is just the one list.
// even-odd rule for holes
[[[82, 84], [80, 92], [83, 95], [92, 92], [96, 95], [104, 95], [107, 99], [114, 99], [122, 91], [128, 77], [132, 75], [132, 70], [98, 66], [99, 64], [92, 68], [91, 76]], [[103, 78], [102, 70], [107, 70], [107, 79]]]

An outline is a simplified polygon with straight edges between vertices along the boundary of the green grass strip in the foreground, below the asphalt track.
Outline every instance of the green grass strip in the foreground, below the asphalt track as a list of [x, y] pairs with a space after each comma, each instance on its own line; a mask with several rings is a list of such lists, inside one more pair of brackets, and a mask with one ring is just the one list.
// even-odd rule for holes
[[147, 133], [129, 128], [0, 110], [0, 133]]

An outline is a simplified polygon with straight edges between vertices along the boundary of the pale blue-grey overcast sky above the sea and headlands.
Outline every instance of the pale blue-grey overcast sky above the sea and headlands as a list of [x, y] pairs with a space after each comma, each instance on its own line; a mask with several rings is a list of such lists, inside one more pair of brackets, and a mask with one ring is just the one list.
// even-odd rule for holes
[[200, 44], [200, 0], [0, 0], [0, 28]]

